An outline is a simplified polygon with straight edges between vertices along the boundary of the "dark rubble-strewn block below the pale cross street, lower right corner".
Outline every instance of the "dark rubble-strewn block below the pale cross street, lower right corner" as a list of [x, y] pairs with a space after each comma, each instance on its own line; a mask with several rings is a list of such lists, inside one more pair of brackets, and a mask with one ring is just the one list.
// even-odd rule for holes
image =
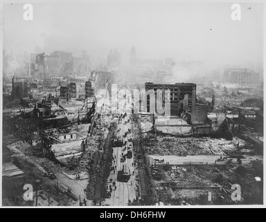
[[[254, 167], [248, 165], [245, 167], [245, 173], [242, 174], [238, 173], [238, 168], [232, 166], [186, 166], [170, 167], [165, 170], [163, 166], [159, 166], [163, 177], [159, 181], [152, 180], [156, 191], [154, 196], [157, 198], [160, 196], [165, 205], [206, 205], [208, 203], [206, 193], [208, 194], [209, 190], [213, 193], [213, 203], [234, 204], [229, 191], [231, 185], [238, 181], [241, 188], [245, 187], [242, 204], [250, 203], [250, 201], [263, 203], [263, 198], [259, 196], [259, 187], [252, 178], [256, 175]], [[200, 187], [206, 187], [206, 189]], [[208, 187], [210, 188], [208, 189]], [[254, 196], [252, 197], [252, 195]]]

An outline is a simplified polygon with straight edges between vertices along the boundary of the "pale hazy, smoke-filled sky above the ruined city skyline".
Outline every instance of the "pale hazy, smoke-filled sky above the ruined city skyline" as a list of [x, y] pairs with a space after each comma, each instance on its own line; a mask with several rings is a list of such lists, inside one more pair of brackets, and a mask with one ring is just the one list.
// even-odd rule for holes
[[263, 62], [263, 5], [240, 6], [241, 21], [233, 21], [231, 3], [33, 3], [33, 21], [24, 21], [23, 4], [8, 3], [3, 48], [77, 55], [86, 49], [95, 58], [118, 48], [128, 60], [134, 44], [140, 58]]

